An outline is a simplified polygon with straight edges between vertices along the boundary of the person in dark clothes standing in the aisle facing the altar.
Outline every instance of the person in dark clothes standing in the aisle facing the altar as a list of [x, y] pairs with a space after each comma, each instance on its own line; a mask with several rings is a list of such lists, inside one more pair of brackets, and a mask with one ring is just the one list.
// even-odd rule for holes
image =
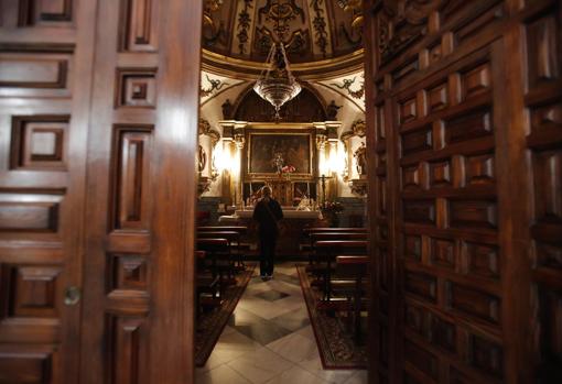
[[267, 279], [273, 276], [275, 262], [275, 244], [279, 234], [278, 221], [283, 218], [283, 211], [279, 202], [271, 196], [271, 188], [261, 188], [262, 198], [253, 208], [253, 220], [258, 221], [258, 234], [260, 240], [260, 275]]

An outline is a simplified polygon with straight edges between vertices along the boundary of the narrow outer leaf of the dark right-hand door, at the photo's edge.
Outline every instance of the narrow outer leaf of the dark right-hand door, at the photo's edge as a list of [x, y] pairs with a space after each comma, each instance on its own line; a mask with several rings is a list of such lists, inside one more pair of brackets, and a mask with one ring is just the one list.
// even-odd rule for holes
[[522, 145], [530, 157], [533, 380], [562, 382], [562, 4], [528, 1]]

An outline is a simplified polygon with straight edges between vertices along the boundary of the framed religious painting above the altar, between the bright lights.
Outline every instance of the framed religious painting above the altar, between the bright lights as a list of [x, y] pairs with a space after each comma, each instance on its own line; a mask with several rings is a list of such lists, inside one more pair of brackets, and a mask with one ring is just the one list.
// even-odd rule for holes
[[311, 178], [314, 175], [314, 133], [312, 130], [248, 131], [246, 174], [250, 178], [287, 176]]

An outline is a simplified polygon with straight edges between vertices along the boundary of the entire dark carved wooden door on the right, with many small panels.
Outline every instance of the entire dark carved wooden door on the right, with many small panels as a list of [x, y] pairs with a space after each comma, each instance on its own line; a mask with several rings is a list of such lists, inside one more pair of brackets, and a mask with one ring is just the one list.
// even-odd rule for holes
[[560, 1], [367, 12], [371, 382], [560, 382]]

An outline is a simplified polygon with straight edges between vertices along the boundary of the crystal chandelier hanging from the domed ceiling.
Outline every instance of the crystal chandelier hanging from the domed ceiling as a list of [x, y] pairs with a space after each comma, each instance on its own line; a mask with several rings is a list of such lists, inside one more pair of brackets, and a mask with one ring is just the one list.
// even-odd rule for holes
[[302, 88], [291, 74], [282, 42], [274, 42], [271, 45], [266, 64], [267, 68], [260, 74], [253, 90], [275, 108], [275, 119], [280, 119], [281, 107], [299, 95]]

